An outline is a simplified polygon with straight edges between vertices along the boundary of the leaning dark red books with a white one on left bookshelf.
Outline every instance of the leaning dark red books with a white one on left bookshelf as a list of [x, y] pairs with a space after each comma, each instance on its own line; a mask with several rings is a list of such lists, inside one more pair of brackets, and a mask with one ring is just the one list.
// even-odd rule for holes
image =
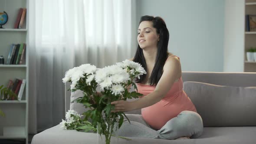
[[9, 80], [7, 88], [11, 89], [17, 95], [17, 99], [7, 98], [6, 100], [21, 100], [25, 85], [26, 79], [15, 79], [14, 82]]

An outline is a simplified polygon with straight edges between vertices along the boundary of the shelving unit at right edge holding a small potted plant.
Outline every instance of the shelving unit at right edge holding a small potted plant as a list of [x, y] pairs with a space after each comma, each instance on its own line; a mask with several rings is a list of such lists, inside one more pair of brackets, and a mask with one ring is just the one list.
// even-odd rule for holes
[[[256, 15], [256, 0], [245, 0], [245, 15]], [[246, 18], [246, 17], [245, 17]], [[246, 52], [256, 47], [256, 31], [246, 31], [244, 36], [244, 72], [256, 72], [256, 62], [248, 62]]]

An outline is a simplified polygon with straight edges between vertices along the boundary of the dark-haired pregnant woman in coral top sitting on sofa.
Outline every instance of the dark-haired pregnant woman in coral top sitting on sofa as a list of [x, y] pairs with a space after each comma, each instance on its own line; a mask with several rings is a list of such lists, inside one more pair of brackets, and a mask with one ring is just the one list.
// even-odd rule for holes
[[199, 137], [203, 122], [183, 91], [181, 63], [178, 56], [167, 52], [169, 32], [161, 17], [142, 16], [138, 27], [138, 48], [130, 59], [147, 71], [137, 79], [135, 101], [113, 101], [115, 110], [141, 109], [141, 115], [126, 114], [119, 136], [161, 139], [189, 139]]

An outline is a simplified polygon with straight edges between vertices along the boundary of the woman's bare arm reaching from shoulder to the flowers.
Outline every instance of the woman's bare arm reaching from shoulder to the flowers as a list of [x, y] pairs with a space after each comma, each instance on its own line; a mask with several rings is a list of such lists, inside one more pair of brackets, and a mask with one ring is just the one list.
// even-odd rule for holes
[[164, 72], [159, 80], [154, 92], [139, 98], [135, 101], [113, 101], [115, 111], [132, 111], [154, 105], [160, 101], [171, 89], [176, 79], [181, 77], [181, 63], [177, 57], [167, 59], [164, 65]]

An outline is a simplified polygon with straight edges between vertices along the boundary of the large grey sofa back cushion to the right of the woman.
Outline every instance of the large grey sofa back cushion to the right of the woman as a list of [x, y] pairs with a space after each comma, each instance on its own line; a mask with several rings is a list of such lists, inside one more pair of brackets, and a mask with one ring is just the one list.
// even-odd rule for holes
[[256, 126], [256, 87], [184, 82], [204, 127]]

